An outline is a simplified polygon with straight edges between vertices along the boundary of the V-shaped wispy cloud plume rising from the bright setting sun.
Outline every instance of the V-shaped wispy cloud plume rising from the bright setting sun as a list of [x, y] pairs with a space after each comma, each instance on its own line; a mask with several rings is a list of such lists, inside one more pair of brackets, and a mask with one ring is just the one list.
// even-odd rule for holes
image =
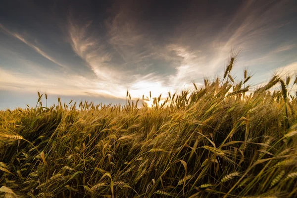
[[[123, 91], [128, 89], [132, 97], [141, 97], [148, 90], [168, 91], [164, 86], [165, 77], [157, 71], [138, 73], [148, 68], [145, 61], [153, 57], [153, 47], [142, 34], [131, 29], [132, 21], [125, 21], [125, 14], [120, 12], [109, 18], [105, 25], [108, 42], [92, 32], [92, 21], [80, 23], [70, 15], [68, 18], [69, 40], [73, 51], [81, 57], [97, 75], [96, 89], [90, 93], [125, 97]], [[132, 25], [133, 26], [133, 25]], [[146, 50], [140, 52], [142, 47]], [[120, 55], [120, 60], [114, 60]], [[151, 61], [151, 60], [150, 60]], [[123, 66], [129, 66], [123, 68]], [[166, 91], [166, 92], [167, 92]]]

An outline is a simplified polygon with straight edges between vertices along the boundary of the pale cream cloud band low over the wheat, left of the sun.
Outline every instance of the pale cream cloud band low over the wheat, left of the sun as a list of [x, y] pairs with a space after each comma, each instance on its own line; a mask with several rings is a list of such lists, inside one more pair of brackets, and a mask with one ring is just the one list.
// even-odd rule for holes
[[[31, 75], [12, 72], [0, 67], [0, 89], [36, 93], [37, 90], [58, 95], [88, 95], [87, 92], [101, 93], [101, 96], [116, 97], [107, 91], [100, 92], [97, 82], [77, 74], [40, 72]], [[116, 90], [119, 91], [119, 90]], [[124, 91], [123, 91], [124, 92]], [[122, 94], [124, 95], [124, 93]], [[120, 96], [120, 93], [117, 95]]]

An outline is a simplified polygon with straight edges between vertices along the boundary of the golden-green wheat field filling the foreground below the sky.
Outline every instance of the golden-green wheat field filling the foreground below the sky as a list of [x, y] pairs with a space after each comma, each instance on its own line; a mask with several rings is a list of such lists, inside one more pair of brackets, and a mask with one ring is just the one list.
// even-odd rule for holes
[[1, 111], [0, 196], [296, 197], [297, 80], [275, 75], [251, 91], [233, 64], [152, 107], [127, 93], [125, 106], [47, 108], [39, 94], [35, 108]]

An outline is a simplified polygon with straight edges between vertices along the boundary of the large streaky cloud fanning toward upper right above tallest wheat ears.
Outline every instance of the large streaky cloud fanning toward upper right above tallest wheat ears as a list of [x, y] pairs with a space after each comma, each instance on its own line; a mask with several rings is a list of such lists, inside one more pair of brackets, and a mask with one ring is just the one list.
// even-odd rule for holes
[[[234, 10], [230, 10], [230, 15], [226, 16], [214, 13], [212, 17], [204, 19], [197, 17], [197, 14], [194, 13], [193, 16], [189, 16], [189, 18], [193, 18], [191, 18], [191, 23], [183, 23], [177, 28], [182, 32], [179, 40], [182, 43], [188, 43], [190, 49], [200, 50], [201, 56], [206, 56], [205, 62], [200, 62], [201, 65], [208, 65], [208, 67], [200, 68], [203, 72], [212, 71], [211, 73], [214, 74], [221, 71], [232, 48], [242, 48], [240, 59], [245, 62], [251, 63], [251, 57], [264, 59], [263, 56], [266, 56], [267, 48], [274, 49], [280, 42], [271, 37], [288, 24], [287, 21], [279, 20], [289, 13], [284, 13], [285, 6], [286, 2], [284, 1], [264, 4], [259, 1], [247, 0]], [[201, 20], [203, 21], [200, 22]], [[199, 24], [199, 26], [195, 31], [191, 31], [195, 24]], [[209, 24], [211, 25], [209, 26]], [[222, 26], [222, 28], [216, 29], [216, 26]], [[275, 49], [274, 53], [292, 50], [293, 47], [284, 46], [284, 48]], [[269, 57], [270, 60], [275, 61], [275, 59], [271, 59], [270, 55]], [[241, 62], [241, 64], [243, 63]], [[258, 62], [252, 63], [255, 66]]]

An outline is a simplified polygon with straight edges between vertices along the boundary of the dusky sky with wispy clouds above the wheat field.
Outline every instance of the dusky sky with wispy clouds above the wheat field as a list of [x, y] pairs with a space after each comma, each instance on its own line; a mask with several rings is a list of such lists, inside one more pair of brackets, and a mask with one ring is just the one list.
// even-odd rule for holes
[[[240, 51], [252, 87], [297, 73], [295, 0], [1, 0], [0, 110], [202, 86]], [[295, 77], [294, 77], [295, 79]]]

